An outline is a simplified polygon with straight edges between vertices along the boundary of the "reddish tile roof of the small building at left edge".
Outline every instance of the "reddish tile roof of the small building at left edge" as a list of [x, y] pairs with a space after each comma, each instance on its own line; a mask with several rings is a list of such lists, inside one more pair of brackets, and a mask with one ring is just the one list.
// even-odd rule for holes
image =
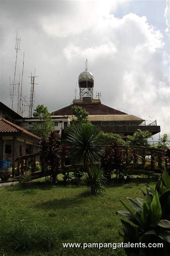
[[22, 134], [25, 136], [29, 136], [34, 140], [40, 140], [40, 138], [33, 134], [30, 133], [29, 131], [25, 130], [24, 128], [15, 125], [14, 123], [9, 122], [8, 120], [4, 118], [0, 118], [0, 133], [16, 133], [16, 134]]

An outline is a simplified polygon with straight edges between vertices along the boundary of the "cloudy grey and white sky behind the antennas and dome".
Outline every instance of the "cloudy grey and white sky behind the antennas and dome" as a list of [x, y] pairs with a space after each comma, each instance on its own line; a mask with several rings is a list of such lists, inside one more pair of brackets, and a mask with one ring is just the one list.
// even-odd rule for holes
[[52, 112], [71, 104], [87, 58], [94, 98], [101, 91], [101, 103], [157, 120], [160, 136], [170, 138], [169, 0], [0, 0], [0, 9], [0, 101], [11, 107], [18, 31], [15, 78], [21, 81], [25, 52], [27, 103], [36, 68], [35, 107], [44, 104]]

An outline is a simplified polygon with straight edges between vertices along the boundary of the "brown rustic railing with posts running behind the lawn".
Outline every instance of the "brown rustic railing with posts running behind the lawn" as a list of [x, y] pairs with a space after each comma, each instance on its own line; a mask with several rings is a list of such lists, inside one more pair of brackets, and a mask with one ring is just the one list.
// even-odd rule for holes
[[[141, 162], [135, 164], [135, 169], [145, 169], [154, 172], [162, 172], [165, 166], [167, 170], [169, 170], [169, 160], [167, 157], [167, 152], [163, 149], [120, 145], [119, 151], [122, 152], [125, 162], [129, 166], [132, 165], [129, 164], [129, 157], [132, 156], [133, 153], [136, 153], [138, 156], [140, 156]], [[52, 170], [45, 171], [43, 170], [43, 166], [41, 166], [41, 171], [36, 171], [36, 162], [39, 161], [41, 156], [42, 153], [38, 152], [25, 156], [19, 156], [12, 159], [12, 177], [15, 178], [19, 175], [23, 175], [28, 170], [32, 172], [33, 179], [50, 175]], [[146, 159], [146, 156], [150, 156], [149, 161]], [[162, 165], [163, 162], [164, 165]], [[58, 174], [62, 172], [75, 172], [78, 170], [82, 170], [82, 165], [65, 166], [65, 163], [61, 161], [61, 166], [59, 168]]]

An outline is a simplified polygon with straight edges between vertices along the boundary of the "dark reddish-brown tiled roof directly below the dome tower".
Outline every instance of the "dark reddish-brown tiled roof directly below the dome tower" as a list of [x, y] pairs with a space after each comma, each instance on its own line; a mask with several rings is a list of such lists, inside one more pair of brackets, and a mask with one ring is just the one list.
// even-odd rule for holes
[[89, 113], [89, 115], [93, 114], [127, 114], [124, 112], [121, 112], [117, 109], [110, 108], [106, 105], [103, 105], [101, 103], [90, 103], [90, 104], [82, 104], [82, 103], [74, 103], [72, 105], [69, 105], [65, 108], [61, 108], [54, 112], [54, 116], [71, 116], [72, 115], [72, 106], [80, 106], [82, 108], [85, 108], [86, 111]]

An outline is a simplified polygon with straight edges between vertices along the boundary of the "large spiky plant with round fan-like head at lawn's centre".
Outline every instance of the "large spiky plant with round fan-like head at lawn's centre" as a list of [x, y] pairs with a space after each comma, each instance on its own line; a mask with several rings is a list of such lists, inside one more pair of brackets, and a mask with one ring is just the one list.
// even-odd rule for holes
[[90, 123], [73, 126], [69, 131], [67, 142], [70, 145], [72, 161], [82, 163], [84, 171], [89, 174], [89, 167], [98, 163], [104, 152], [99, 135], [94, 131], [94, 126]]

